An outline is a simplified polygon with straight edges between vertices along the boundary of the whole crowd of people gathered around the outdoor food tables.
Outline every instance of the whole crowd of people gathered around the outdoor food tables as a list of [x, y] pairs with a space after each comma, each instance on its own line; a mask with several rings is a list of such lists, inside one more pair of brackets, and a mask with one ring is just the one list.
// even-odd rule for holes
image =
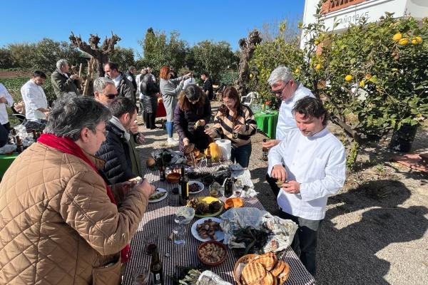
[[[0, 183], [0, 283], [118, 284], [128, 243], [136, 233], [154, 187], [144, 177], [136, 150], [137, 98], [146, 128], [156, 128], [158, 98], [166, 111], [168, 145], [203, 151], [215, 138], [230, 140], [233, 162], [248, 167], [257, 124], [250, 106], [228, 86], [213, 116], [213, 85], [207, 73], [176, 77], [162, 66], [159, 83], [151, 68], [126, 73], [104, 65], [93, 81], [93, 97], [81, 96], [80, 78], [65, 60], [51, 75], [57, 96], [49, 106], [46, 74], [35, 71], [21, 88], [27, 120], [46, 123], [39, 140], [12, 163]], [[266, 180], [280, 217], [299, 225], [292, 248], [315, 276], [317, 230], [327, 197], [345, 182], [345, 149], [327, 128], [322, 101], [289, 68], [279, 66], [268, 81], [281, 100], [276, 138], [269, 149]], [[6, 107], [14, 103], [0, 85], [0, 123], [10, 129]], [[173, 137], [174, 130], [178, 140]], [[0, 132], [1, 133], [1, 132]]]

